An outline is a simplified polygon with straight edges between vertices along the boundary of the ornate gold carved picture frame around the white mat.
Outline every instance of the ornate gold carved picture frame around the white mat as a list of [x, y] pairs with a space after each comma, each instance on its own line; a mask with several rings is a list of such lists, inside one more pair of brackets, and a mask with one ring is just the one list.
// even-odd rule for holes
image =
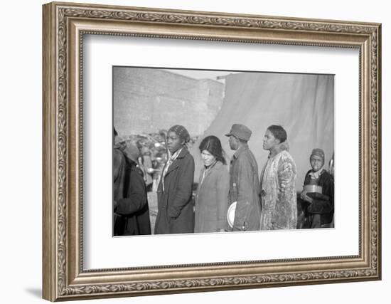
[[[379, 23], [45, 4], [43, 298], [80, 300], [380, 280], [380, 30]], [[86, 270], [82, 230], [83, 157], [87, 157], [82, 145], [82, 45], [87, 34], [357, 49], [359, 150], [355, 153], [359, 173], [350, 182], [358, 184], [359, 189], [358, 254]]]

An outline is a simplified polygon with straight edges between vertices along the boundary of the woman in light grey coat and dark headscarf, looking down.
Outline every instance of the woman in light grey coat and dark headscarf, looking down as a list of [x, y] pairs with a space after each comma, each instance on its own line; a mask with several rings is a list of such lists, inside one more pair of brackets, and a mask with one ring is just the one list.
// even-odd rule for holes
[[208, 136], [200, 143], [203, 168], [195, 199], [194, 232], [223, 232], [227, 227], [228, 174], [218, 137]]

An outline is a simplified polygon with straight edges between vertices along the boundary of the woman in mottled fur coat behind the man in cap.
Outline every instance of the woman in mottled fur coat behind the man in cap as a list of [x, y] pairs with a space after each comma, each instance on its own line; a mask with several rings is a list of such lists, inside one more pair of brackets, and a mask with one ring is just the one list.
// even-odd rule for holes
[[269, 157], [261, 174], [261, 230], [296, 229], [296, 164], [286, 138], [280, 125], [271, 125], [264, 135]]

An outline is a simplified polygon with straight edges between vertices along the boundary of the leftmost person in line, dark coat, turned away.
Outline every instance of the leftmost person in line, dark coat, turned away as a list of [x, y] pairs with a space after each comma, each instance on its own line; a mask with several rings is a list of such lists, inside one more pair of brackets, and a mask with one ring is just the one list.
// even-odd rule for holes
[[[124, 185], [122, 189], [114, 187], [114, 213], [117, 214], [114, 236], [151, 234], [146, 187], [143, 173], [137, 164], [139, 148], [132, 142], [125, 142], [122, 143], [122, 149], [114, 149], [114, 185], [117, 171], [115, 168], [124, 166], [120, 169], [124, 171]], [[122, 155], [119, 152], [122, 152]]]

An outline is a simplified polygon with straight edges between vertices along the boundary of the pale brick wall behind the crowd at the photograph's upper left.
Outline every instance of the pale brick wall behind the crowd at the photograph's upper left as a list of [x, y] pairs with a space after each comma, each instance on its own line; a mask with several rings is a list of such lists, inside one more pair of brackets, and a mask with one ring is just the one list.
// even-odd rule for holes
[[120, 135], [184, 125], [202, 135], [220, 110], [224, 85], [154, 68], [113, 68], [114, 126]]

